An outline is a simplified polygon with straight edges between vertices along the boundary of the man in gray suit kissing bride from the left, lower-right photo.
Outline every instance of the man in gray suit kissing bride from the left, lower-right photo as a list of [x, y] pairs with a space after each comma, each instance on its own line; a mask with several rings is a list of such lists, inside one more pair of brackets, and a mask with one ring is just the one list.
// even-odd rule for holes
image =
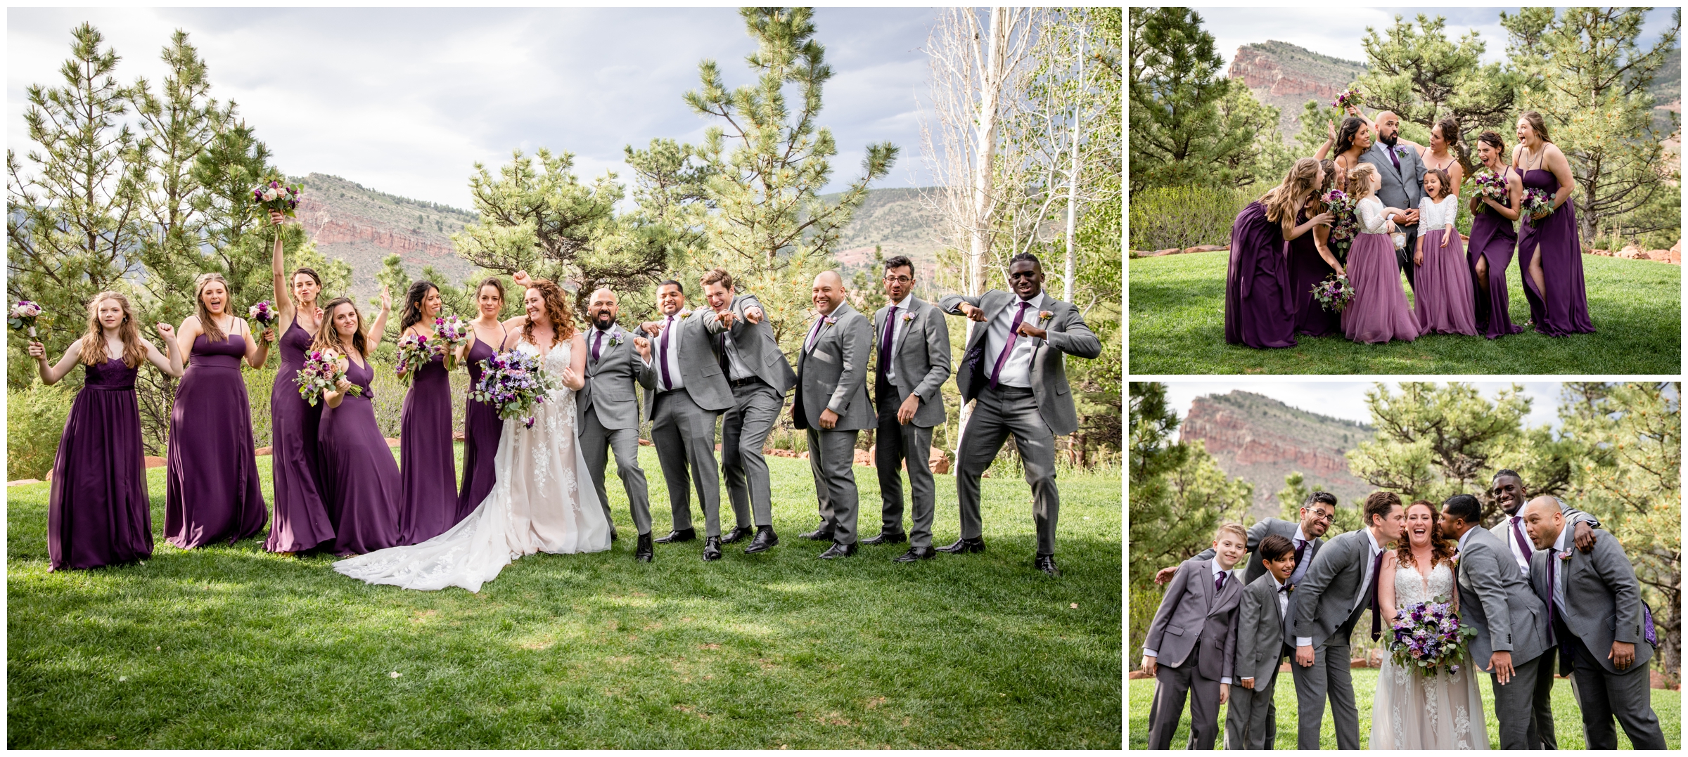
[[1361, 749], [1361, 715], [1354, 706], [1349, 673], [1349, 637], [1361, 612], [1372, 610], [1372, 641], [1382, 636], [1377, 614], [1377, 570], [1382, 545], [1401, 538], [1406, 511], [1394, 492], [1366, 497], [1366, 528], [1349, 531], [1313, 555], [1296, 585], [1295, 612], [1295, 698], [1298, 701], [1296, 749], [1318, 749], [1325, 720], [1325, 698], [1337, 722], [1337, 749]]

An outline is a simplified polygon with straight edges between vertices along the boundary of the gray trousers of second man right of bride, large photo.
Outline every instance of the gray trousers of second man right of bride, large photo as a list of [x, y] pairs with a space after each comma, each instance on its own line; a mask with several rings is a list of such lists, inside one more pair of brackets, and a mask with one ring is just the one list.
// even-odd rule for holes
[[[650, 418], [650, 440], [657, 445], [662, 479], [668, 482], [674, 529], [692, 528], [692, 494], [704, 506], [704, 534], [721, 536], [721, 475], [716, 467], [716, 413], [699, 408], [685, 389], [657, 395]], [[690, 475], [687, 475], [690, 469]], [[690, 479], [690, 481], [687, 481]]]

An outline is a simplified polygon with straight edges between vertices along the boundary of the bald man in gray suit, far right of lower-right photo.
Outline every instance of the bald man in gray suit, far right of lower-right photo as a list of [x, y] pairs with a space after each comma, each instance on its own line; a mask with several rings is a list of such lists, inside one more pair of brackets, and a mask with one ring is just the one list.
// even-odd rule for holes
[[[1593, 550], [1587, 555], [1573, 550], [1553, 497], [1531, 499], [1524, 524], [1539, 550], [1531, 556], [1529, 583], [1548, 609], [1560, 671], [1577, 681], [1573, 691], [1588, 749], [1617, 749], [1612, 718], [1636, 749], [1666, 749], [1647, 688], [1653, 617], [1641, 602], [1641, 583], [1622, 545], [1597, 531]], [[1551, 661], [1551, 651], [1545, 658]]]

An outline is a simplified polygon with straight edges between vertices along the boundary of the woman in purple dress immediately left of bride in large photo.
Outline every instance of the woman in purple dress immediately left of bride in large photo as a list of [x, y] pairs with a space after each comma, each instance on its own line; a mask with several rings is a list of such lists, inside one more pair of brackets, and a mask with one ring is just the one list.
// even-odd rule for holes
[[[510, 337], [510, 329], [498, 320], [505, 309], [505, 282], [491, 276], [481, 282], [474, 293], [474, 303], [481, 317], [469, 322], [474, 336], [457, 347], [461, 357], [469, 362], [469, 391], [481, 383], [481, 361], [498, 354], [500, 346]], [[463, 413], [463, 489], [457, 492], [457, 513], [452, 523], [474, 513], [474, 507], [493, 491], [493, 455], [498, 454], [498, 438], [505, 432], [505, 421], [498, 418], [498, 408], [466, 400]]]

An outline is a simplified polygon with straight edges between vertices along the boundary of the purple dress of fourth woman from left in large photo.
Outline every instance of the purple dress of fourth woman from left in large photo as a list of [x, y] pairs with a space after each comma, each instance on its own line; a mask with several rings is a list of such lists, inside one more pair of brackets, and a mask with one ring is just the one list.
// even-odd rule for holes
[[363, 555], [398, 545], [398, 464], [375, 425], [375, 368], [348, 359], [346, 379], [363, 395], [346, 395], [338, 408], [322, 408], [317, 448], [322, 452], [324, 504], [334, 516], [334, 550]]

